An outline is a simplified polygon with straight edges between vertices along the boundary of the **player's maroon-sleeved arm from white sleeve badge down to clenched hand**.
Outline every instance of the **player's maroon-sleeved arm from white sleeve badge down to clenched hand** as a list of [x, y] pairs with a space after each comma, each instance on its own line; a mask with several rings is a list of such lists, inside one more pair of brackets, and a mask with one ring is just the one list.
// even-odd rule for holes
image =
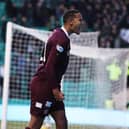
[[59, 90], [59, 83], [57, 82], [56, 71], [55, 71], [55, 65], [59, 59], [60, 54], [62, 54], [63, 51], [64, 48], [61, 45], [59, 44], [53, 45], [51, 51], [49, 52], [48, 60], [45, 64], [45, 70], [48, 75], [48, 80], [50, 86], [52, 87], [53, 95], [57, 100], [64, 99], [63, 93]]

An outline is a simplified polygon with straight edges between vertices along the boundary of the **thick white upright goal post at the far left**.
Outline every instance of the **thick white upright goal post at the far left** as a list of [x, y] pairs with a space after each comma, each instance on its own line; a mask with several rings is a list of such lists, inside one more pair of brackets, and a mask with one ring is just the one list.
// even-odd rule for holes
[[4, 65], [4, 85], [2, 96], [2, 117], [1, 129], [6, 129], [7, 121], [7, 106], [9, 94], [9, 78], [10, 78], [10, 61], [11, 61], [11, 43], [12, 43], [12, 24], [7, 25], [8, 36], [6, 35], [6, 51], [5, 51], [5, 65]]

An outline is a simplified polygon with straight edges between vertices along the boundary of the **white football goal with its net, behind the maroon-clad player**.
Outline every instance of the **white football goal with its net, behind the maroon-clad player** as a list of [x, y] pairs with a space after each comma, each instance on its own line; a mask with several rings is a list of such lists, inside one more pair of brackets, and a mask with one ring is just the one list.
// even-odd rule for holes
[[[28, 83], [51, 32], [8, 23], [6, 33], [1, 129], [21, 129], [30, 117]], [[128, 126], [124, 110], [129, 52], [97, 48], [97, 38], [98, 32], [71, 36], [70, 62], [63, 79], [70, 129], [87, 129], [88, 124]]]

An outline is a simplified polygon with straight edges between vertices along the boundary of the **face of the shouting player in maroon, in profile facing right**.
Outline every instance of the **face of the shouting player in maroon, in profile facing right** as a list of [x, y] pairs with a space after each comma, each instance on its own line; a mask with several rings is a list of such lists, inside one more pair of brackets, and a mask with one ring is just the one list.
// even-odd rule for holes
[[77, 13], [75, 15], [75, 18], [72, 20], [71, 30], [73, 33], [80, 34], [82, 20], [82, 15], [80, 13]]

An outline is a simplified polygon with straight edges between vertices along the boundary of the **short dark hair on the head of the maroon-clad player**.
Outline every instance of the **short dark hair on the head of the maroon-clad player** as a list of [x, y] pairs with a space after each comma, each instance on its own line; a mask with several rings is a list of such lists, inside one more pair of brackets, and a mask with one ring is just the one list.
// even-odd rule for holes
[[63, 15], [63, 23], [66, 23], [68, 20], [72, 20], [75, 17], [75, 14], [80, 13], [79, 10], [68, 10]]

